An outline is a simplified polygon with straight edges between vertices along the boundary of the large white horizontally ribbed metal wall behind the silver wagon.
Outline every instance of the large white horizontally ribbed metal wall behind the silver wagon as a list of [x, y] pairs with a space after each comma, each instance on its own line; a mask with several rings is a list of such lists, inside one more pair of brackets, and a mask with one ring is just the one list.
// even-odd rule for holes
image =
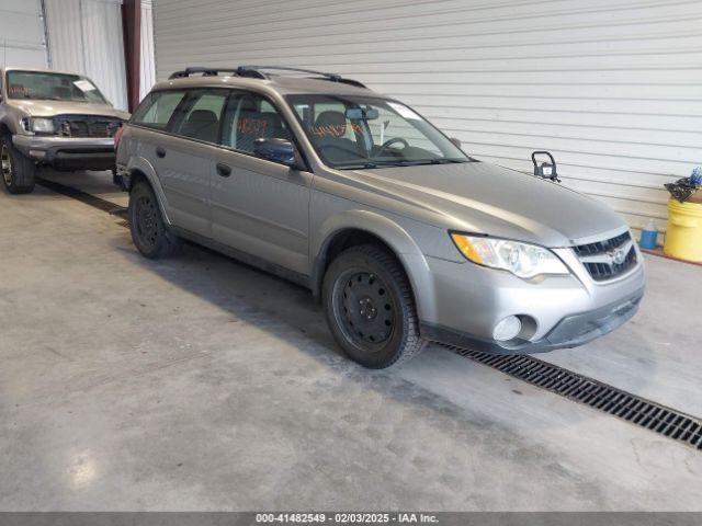
[[702, 162], [702, 2], [156, 0], [157, 75], [188, 65], [337, 71], [415, 105], [479, 159], [564, 182], [634, 227]]

